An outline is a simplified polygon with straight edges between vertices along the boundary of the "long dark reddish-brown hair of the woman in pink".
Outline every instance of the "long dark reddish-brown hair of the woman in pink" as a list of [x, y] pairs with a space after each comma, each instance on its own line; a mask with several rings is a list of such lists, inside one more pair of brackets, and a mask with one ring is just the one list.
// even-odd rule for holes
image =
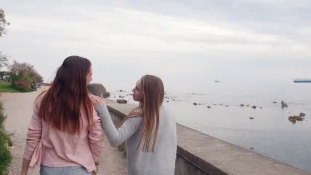
[[53, 85], [48, 91], [43, 92], [45, 94], [40, 103], [39, 116], [44, 121], [50, 122], [53, 128], [71, 134], [80, 132], [83, 108], [87, 115], [87, 127], [91, 125], [93, 106], [88, 96], [86, 82], [90, 67], [91, 61], [86, 58], [79, 56], [66, 58], [57, 70]]

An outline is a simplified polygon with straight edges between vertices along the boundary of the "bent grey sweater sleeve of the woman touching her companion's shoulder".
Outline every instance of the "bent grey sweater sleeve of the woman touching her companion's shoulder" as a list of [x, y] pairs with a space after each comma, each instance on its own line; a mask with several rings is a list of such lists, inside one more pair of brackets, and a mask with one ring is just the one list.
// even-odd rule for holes
[[120, 128], [114, 125], [106, 105], [96, 107], [106, 132], [107, 138], [112, 146], [119, 146], [136, 133], [143, 121], [143, 117], [132, 117], [125, 120]]

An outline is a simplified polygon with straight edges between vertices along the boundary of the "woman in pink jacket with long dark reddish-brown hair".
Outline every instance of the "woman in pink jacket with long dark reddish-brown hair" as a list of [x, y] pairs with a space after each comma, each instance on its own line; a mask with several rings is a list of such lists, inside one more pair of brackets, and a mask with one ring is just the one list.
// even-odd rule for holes
[[70, 56], [63, 61], [53, 86], [34, 103], [21, 174], [34, 165], [40, 165], [41, 175], [97, 171], [103, 130], [87, 91], [90, 81], [90, 60]]

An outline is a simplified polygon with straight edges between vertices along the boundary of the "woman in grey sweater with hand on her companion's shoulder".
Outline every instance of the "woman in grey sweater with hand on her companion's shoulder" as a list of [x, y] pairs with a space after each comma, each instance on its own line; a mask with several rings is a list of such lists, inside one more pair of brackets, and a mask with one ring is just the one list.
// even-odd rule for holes
[[127, 174], [174, 174], [176, 121], [162, 105], [164, 85], [157, 76], [145, 75], [137, 81], [133, 99], [139, 102], [116, 128], [103, 97], [92, 96], [103, 129], [112, 146], [126, 142]]

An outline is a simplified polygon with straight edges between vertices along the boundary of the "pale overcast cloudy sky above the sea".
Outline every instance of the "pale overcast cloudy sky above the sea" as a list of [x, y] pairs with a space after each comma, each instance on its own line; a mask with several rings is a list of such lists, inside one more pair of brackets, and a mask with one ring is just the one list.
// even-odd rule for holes
[[[107, 89], [144, 74], [170, 89], [220, 79], [311, 78], [311, 1], [16, 1], [0, 51], [46, 81], [70, 55], [93, 63]], [[124, 85], [126, 84], [126, 85]]]

